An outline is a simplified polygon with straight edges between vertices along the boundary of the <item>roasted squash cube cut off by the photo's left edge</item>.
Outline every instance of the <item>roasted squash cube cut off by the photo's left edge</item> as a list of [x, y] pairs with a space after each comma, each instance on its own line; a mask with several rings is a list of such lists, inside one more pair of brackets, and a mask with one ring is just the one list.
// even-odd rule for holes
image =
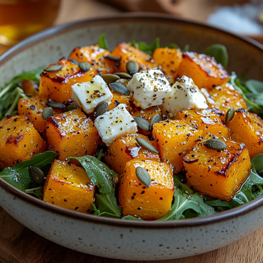
[[0, 121], [0, 170], [13, 167], [43, 153], [45, 141], [40, 137], [28, 116], [12, 116]]

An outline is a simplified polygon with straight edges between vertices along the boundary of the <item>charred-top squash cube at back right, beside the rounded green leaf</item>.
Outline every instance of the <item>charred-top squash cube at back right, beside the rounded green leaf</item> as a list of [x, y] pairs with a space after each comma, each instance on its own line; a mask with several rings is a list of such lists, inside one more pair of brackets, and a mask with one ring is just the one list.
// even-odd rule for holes
[[215, 58], [195, 52], [184, 52], [183, 61], [178, 69], [178, 76], [192, 78], [201, 89], [211, 90], [214, 86], [224, 85], [229, 80], [227, 71]]

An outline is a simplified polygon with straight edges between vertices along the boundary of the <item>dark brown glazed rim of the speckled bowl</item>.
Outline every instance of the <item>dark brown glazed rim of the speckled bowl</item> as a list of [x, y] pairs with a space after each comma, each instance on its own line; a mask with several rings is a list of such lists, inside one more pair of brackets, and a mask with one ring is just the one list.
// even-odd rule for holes
[[[171, 24], [184, 24], [187, 26], [194, 26], [200, 27], [209, 31], [214, 31], [217, 33], [221, 33], [224, 35], [228, 35], [231, 38], [235, 38], [240, 42], [245, 42], [250, 46], [259, 49], [263, 52], [263, 45], [259, 42], [254, 41], [253, 39], [249, 39], [247, 37], [237, 36], [230, 32], [224, 31], [222, 29], [208, 26], [206, 24], [197, 23], [193, 21], [187, 21], [184, 19], [174, 18], [171, 15], [164, 15], [160, 13], [120, 13], [115, 14], [113, 16], [107, 16], [103, 18], [92, 18], [86, 19], [78, 22], [72, 22], [67, 24], [62, 24], [59, 26], [54, 26], [48, 29], [45, 29], [39, 33], [36, 33], [23, 41], [19, 42], [18, 44], [14, 45], [2, 55], [0, 55], [0, 67], [4, 65], [13, 55], [16, 55], [22, 52], [24, 49], [33, 46], [34, 44], [41, 42], [43, 40], [47, 40], [54, 35], [62, 34], [67, 31], [72, 31], [74, 29], [80, 29], [83, 27], [91, 27], [91, 26], [98, 26], [103, 25], [105, 23], [121, 23], [121, 22], [164, 22], [164, 23], [171, 23]], [[183, 219], [183, 220], [171, 220], [171, 221], [136, 221], [136, 220], [122, 220], [122, 219], [115, 219], [115, 218], [107, 218], [107, 217], [99, 217], [90, 214], [84, 214], [79, 212], [74, 212], [71, 210], [67, 210], [64, 208], [60, 208], [58, 206], [45, 203], [43, 200], [34, 198], [33, 196], [18, 190], [11, 184], [7, 183], [3, 179], [0, 178], [0, 186], [8, 191], [9, 193], [14, 195], [15, 198], [20, 198], [32, 205], [36, 205], [39, 208], [51, 211], [53, 213], [58, 213], [63, 216], [67, 216], [69, 218], [74, 218], [77, 220], [84, 220], [87, 222], [93, 222], [97, 224], [107, 224], [107, 225], [114, 225], [120, 227], [135, 227], [135, 228], [147, 228], [147, 229], [169, 229], [169, 228], [183, 228], [183, 227], [191, 227], [191, 226], [201, 226], [207, 224], [215, 224], [216, 222], [222, 220], [230, 220], [234, 219], [237, 216], [241, 216], [243, 214], [248, 213], [249, 211], [258, 208], [259, 206], [263, 205], [263, 196], [257, 198], [255, 200], [250, 201], [247, 204], [241, 205], [237, 208], [233, 208], [227, 211], [220, 212], [218, 214], [214, 214], [211, 216], [206, 217], [198, 217], [198, 218], [190, 218], [190, 219]]]

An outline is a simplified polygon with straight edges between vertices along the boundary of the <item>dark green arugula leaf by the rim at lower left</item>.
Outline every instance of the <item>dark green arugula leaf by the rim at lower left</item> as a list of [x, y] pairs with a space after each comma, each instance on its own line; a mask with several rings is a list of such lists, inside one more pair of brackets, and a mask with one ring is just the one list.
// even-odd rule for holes
[[42, 168], [50, 164], [57, 158], [57, 153], [54, 151], [45, 151], [44, 153], [36, 154], [32, 159], [17, 163], [13, 167], [7, 167], [0, 173], [0, 178], [12, 184], [21, 191], [29, 189], [35, 183], [32, 178], [29, 167], [37, 166]]

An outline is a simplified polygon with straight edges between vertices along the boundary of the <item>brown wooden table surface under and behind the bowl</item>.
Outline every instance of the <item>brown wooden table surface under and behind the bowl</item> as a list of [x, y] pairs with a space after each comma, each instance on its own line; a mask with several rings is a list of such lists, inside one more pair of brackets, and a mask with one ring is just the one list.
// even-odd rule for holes
[[[188, 2], [190, 0], [187, 0]], [[199, 1], [199, 0], [194, 0]], [[203, 1], [203, 0], [202, 0]], [[118, 10], [85, 0], [62, 0], [56, 24], [85, 17], [113, 14]], [[0, 53], [6, 48], [0, 47]], [[249, 222], [248, 222], [249, 224]], [[86, 255], [54, 244], [21, 225], [0, 207], [0, 263], [128, 263]], [[142, 261], [141, 261], [142, 262]], [[157, 261], [155, 261], [157, 262]], [[262, 263], [263, 227], [244, 239], [206, 254], [161, 263]]]

